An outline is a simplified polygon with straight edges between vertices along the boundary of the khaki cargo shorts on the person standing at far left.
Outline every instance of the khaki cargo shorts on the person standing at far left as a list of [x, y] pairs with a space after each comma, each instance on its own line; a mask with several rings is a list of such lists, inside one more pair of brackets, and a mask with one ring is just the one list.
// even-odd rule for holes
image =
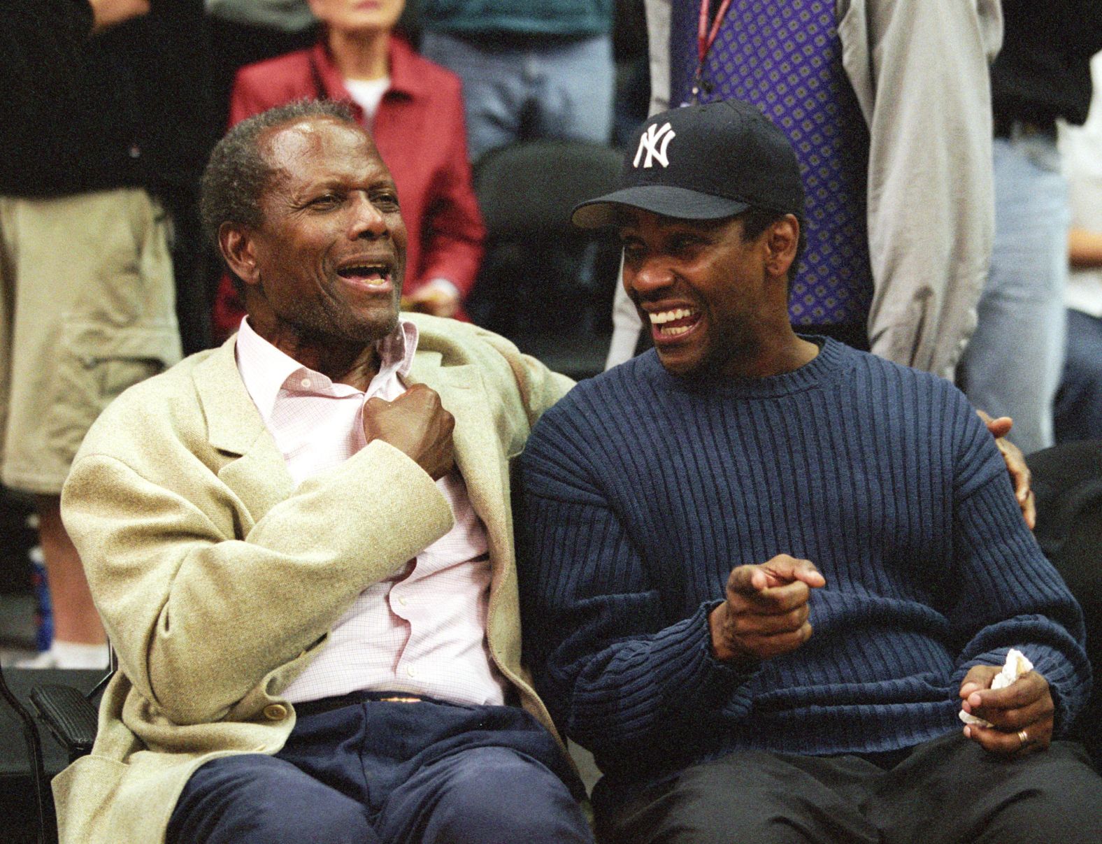
[[88, 426], [181, 357], [169, 219], [143, 190], [0, 197], [0, 477], [56, 495]]

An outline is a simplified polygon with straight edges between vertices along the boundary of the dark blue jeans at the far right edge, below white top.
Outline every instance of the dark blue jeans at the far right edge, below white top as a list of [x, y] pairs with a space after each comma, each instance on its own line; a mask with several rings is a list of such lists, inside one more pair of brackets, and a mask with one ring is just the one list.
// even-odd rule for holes
[[1102, 317], [1068, 311], [1068, 354], [1056, 394], [1056, 441], [1102, 439]]

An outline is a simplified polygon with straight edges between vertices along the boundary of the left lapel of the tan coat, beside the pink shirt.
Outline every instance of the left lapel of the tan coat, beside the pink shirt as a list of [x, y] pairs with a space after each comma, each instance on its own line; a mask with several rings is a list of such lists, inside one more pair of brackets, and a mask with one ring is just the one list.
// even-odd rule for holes
[[236, 337], [226, 340], [196, 367], [193, 377], [210, 445], [227, 458], [218, 478], [234, 490], [256, 522], [294, 491], [294, 480], [245, 389], [234, 356], [235, 343]]

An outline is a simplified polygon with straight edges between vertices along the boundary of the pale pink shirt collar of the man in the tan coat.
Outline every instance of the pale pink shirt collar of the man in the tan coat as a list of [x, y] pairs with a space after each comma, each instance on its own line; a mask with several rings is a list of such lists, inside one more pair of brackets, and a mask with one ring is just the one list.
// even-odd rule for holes
[[[252, 398], [267, 423], [279, 398], [280, 390], [290, 392], [324, 393], [334, 397], [371, 394], [389, 378], [404, 378], [413, 366], [417, 353], [418, 329], [408, 320], [399, 320], [395, 329], [376, 343], [379, 351], [379, 371], [368, 385], [366, 393], [344, 383], [333, 383], [328, 376], [303, 366], [293, 357], [276, 348], [253, 331], [248, 317], [241, 320], [237, 333], [237, 369], [245, 389]], [[303, 381], [307, 383], [304, 385]]]

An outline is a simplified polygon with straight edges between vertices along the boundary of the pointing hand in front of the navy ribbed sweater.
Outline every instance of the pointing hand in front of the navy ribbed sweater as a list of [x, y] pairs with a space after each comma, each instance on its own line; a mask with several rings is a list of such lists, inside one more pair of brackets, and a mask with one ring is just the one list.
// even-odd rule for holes
[[712, 652], [725, 662], [753, 662], [796, 650], [811, 636], [811, 589], [825, 584], [809, 560], [788, 554], [736, 566], [725, 600], [707, 617]]

